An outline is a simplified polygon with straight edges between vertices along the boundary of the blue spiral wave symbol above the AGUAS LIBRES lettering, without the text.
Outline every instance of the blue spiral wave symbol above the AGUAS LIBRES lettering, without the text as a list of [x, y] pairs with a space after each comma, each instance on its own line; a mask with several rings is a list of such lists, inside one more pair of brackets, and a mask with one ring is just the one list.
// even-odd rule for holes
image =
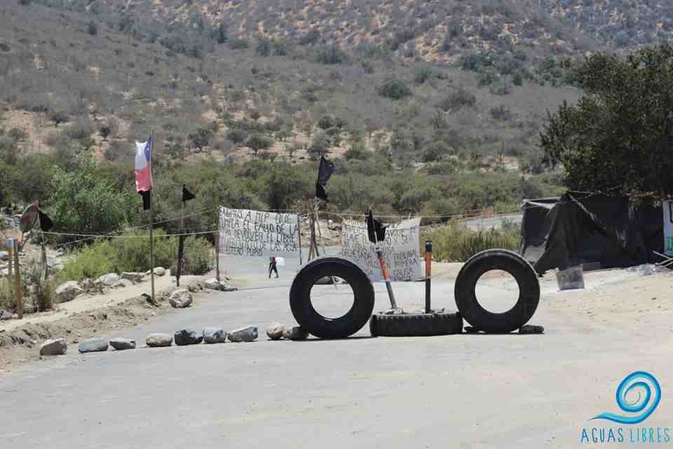
[[[627, 394], [637, 391], [638, 397], [633, 402], [627, 401]], [[617, 387], [617, 405], [625, 413], [636, 415], [624, 416], [604, 412], [592, 417], [592, 420], [610, 420], [619, 424], [638, 424], [647, 419], [661, 401], [661, 387], [659, 382], [650, 373], [636, 371], [627, 375]]]

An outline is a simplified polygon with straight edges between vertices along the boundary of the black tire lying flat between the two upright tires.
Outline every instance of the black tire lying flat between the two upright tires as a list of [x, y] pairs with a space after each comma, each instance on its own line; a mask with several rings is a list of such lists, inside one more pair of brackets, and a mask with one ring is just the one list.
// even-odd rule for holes
[[372, 315], [369, 320], [372, 337], [430, 337], [463, 332], [461, 314]]

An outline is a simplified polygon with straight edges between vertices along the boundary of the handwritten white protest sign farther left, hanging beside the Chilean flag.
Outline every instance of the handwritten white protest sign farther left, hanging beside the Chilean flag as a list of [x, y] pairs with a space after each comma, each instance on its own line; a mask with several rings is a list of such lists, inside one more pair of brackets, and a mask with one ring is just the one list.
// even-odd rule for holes
[[241, 256], [298, 253], [297, 215], [220, 208], [218, 251]]

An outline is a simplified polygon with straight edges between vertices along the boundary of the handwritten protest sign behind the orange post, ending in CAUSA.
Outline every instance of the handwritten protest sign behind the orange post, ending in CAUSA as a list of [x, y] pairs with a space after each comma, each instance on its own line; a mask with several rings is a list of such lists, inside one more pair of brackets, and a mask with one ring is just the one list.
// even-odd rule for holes
[[[416, 281], [421, 277], [421, 219], [405, 220], [386, 229], [381, 251], [391, 281]], [[370, 281], [382, 281], [374, 243], [367, 239], [367, 225], [355, 220], [341, 224], [341, 256], [358, 264]]]

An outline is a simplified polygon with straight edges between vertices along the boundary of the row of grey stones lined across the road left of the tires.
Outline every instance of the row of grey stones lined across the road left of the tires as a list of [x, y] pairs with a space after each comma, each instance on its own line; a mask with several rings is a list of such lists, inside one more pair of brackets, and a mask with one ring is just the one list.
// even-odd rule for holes
[[[306, 337], [308, 337], [308, 333], [301, 327], [285, 327], [280, 323], [273, 323], [271, 326], [268, 326], [266, 335], [268, 335], [271, 340], [280, 340], [281, 338], [285, 338], [285, 340], [305, 340]], [[244, 328], [231, 330], [230, 332], [226, 332], [223, 328], [216, 327], [205, 328], [201, 333], [197, 333], [195, 330], [191, 329], [182, 329], [178, 330], [172, 337], [169, 334], [152, 333], [147, 335], [145, 344], [150, 348], [168, 347], [173, 344], [174, 340], [177, 346], [199, 344], [201, 342], [207, 344], [252, 342], [257, 340], [257, 326], [245, 326]], [[102, 352], [107, 351], [109, 346], [117, 351], [123, 351], [125, 349], [135, 349], [136, 344], [135, 340], [130, 340], [128, 338], [105, 340], [104, 338], [93, 337], [80, 342], [78, 350], [80, 353]], [[67, 351], [68, 345], [62, 338], [47, 340], [40, 346], [41, 356], [58, 356], [66, 354]]]

